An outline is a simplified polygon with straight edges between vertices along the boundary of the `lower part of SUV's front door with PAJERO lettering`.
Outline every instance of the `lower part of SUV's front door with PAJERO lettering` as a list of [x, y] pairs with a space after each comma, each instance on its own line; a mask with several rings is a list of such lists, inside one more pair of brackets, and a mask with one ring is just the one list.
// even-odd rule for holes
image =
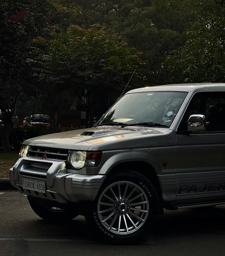
[[176, 136], [176, 195], [179, 201], [224, 196], [225, 133]]

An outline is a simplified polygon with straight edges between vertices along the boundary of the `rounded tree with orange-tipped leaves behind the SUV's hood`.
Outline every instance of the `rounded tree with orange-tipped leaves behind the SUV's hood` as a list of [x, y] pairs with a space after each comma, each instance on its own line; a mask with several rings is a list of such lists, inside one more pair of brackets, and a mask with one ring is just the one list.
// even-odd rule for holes
[[[76, 25], [67, 32], [57, 26], [52, 29], [52, 39], [34, 39], [38, 47], [31, 48], [35, 58], [28, 62], [35, 65], [37, 80], [45, 81], [51, 91], [67, 89], [79, 98], [86, 108], [87, 127], [89, 117], [92, 125], [100, 92], [122, 89], [134, 70], [134, 84], [144, 80], [148, 70], [143, 68], [146, 62], [140, 58], [142, 52], [129, 47], [121, 36], [107, 33], [104, 26], [94, 24], [82, 29]], [[82, 99], [84, 91], [86, 102]]]

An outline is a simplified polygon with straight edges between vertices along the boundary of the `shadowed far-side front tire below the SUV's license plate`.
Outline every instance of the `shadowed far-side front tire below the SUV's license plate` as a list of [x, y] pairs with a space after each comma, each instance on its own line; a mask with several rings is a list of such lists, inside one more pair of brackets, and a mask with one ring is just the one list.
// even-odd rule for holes
[[48, 220], [51, 222], [66, 222], [78, 216], [78, 214], [72, 210], [48, 208], [46, 206], [43, 206], [42, 204], [39, 204], [36, 200], [32, 198], [29, 198], [28, 201], [33, 211], [43, 220]]

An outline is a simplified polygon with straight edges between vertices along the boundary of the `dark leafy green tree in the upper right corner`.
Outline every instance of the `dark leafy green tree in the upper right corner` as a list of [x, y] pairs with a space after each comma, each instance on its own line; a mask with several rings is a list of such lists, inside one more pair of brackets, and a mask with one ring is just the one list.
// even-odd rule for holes
[[200, 0], [197, 29], [165, 61], [169, 83], [225, 82], [225, 2]]

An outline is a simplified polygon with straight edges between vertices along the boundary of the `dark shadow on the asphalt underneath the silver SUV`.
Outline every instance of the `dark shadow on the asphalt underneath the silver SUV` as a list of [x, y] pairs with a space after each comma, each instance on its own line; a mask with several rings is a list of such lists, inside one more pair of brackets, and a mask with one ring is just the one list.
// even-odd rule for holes
[[[165, 210], [164, 216], [159, 216], [156, 226], [150, 227], [146, 239], [139, 244], [148, 243], [152, 239], [161, 241], [163, 244], [163, 241], [167, 241], [173, 236], [194, 238], [197, 233], [225, 235], [224, 216], [225, 206], [217, 206], [213, 209]], [[106, 244], [102, 236], [96, 233], [81, 216], [66, 223], [51, 223], [44, 220], [30, 221], [29, 227], [31, 228], [31, 226], [32, 233], [38, 233], [42, 237]]]

